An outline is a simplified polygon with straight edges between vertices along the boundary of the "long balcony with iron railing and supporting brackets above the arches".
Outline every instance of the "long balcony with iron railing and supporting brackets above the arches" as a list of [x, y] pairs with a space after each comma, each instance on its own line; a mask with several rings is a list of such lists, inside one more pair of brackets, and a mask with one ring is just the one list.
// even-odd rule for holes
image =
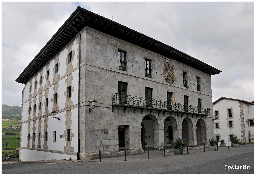
[[204, 108], [198, 106], [192, 106], [192, 105], [184, 105], [181, 103], [170, 103], [162, 100], [155, 100], [155, 99], [146, 99], [143, 97], [137, 97], [132, 95], [119, 95], [118, 93], [112, 95], [112, 112], [115, 108], [115, 106], [122, 106], [124, 107], [124, 112], [127, 107], [134, 108], [134, 113], [136, 109], [141, 109], [141, 114], [143, 110], [148, 109], [150, 110], [150, 113], [153, 110], [158, 110], [158, 115], [160, 112], [163, 112], [163, 115], [165, 112], [170, 112], [170, 115], [172, 112], [177, 112], [178, 116], [183, 116], [184, 114], [192, 114], [192, 117], [196, 115], [198, 117], [199, 115], [207, 117], [210, 115], [210, 108]]

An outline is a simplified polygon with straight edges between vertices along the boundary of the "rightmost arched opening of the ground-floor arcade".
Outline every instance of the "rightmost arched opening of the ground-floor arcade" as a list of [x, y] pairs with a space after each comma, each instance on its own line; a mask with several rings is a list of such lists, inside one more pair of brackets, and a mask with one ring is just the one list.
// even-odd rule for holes
[[207, 143], [206, 140], [206, 125], [203, 119], [199, 119], [196, 124], [196, 137], [197, 145], [202, 145]]

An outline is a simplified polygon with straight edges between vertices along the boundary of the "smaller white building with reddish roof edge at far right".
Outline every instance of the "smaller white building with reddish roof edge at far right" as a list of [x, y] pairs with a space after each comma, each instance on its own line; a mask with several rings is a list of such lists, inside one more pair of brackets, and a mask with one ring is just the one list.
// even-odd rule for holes
[[218, 115], [214, 121], [214, 131], [219, 145], [221, 139], [225, 140], [226, 145], [231, 143], [233, 135], [242, 142], [254, 143], [254, 101], [221, 97], [213, 102], [213, 110], [214, 115]]

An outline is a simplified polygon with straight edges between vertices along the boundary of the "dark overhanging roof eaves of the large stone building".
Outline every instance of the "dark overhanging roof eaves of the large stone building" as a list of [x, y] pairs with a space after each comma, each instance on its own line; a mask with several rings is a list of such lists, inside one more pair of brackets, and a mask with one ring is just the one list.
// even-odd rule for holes
[[[141, 46], [150, 51], [164, 55], [171, 59], [177, 60], [183, 64], [193, 67], [197, 70], [210, 75], [219, 74], [221, 71], [183, 53], [171, 46], [159, 42], [142, 33], [116, 23], [110, 19], [104, 18], [86, 9], [78, 7], [68, 18], [70, 25], [77, 31], [81, 31], [88, 26], [103, 33], [112, 35], [119, 39]], [[34, 76], [54, 55], [56, 55], [74, 36], [78, 33], [68, 26], [65, 22], [54, 36], [41, 49], [36, 57], [30, 62], [25, 70], [16, 79], [18, 83], [26, 83]]]

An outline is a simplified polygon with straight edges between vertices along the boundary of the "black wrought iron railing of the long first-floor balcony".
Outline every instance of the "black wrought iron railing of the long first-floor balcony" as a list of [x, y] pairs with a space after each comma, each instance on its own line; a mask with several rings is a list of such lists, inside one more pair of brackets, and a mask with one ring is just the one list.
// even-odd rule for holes
[[121, 95], [121, 94], [113, 94], [112, 95], [112, 104], [127, 104], [134, 105], [137, 107], [152, 107], [157, 109], [166, 109], [166, 110], [174, 110], [174, 111], [184, 111], [184, 112], [194, 112], [200, 114], [210, 114], [210, 108], [198, 108], [198, 106], [192, 105], [184, 105], [181, 103], [170, 103], [162, 100], [155, 99], [146, 99], [143, 97], [137, 97], [132, 95]]

